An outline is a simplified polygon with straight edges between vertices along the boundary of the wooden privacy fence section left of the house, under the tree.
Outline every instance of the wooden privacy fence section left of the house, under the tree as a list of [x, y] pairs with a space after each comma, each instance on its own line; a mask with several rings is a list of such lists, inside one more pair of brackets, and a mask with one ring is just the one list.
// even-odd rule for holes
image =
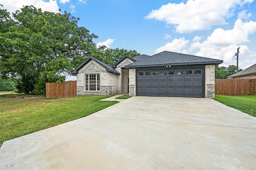
[[76, 96], [76, 81], [46, 83], [46, 98], [66, 98]]

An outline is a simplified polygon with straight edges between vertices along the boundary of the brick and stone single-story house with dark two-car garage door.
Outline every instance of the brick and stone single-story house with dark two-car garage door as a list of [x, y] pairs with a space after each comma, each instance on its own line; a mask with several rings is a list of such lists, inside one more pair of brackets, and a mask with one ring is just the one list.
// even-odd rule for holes
[[222, 60], [170, 51], [149, 56], [125, 55], [107, 65], [89, 57], [72, 73], [77, 95], [214, 97], [215, 65]]

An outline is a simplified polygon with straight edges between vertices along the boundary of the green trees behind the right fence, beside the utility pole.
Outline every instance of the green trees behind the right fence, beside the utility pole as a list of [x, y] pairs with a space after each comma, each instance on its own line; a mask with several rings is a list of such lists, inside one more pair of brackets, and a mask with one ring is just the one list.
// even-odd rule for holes
[[[242, 71], [242, 69], [238, 69], [238, 71]], [[236, 66], [229, 65], [228, 67], [218, 65], [215, 66], [215, 79], [226, 79], [228, 76], [236, 73]]]

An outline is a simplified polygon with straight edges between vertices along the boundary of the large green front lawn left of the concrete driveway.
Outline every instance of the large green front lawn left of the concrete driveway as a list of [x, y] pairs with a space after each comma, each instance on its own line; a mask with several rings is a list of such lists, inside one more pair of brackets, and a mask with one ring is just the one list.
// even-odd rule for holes
[[64, 99], [0, 98], [0, 147], [5, 140], [60, 125], [118, 103], [99, 101], [114, 96], [77, 96]]

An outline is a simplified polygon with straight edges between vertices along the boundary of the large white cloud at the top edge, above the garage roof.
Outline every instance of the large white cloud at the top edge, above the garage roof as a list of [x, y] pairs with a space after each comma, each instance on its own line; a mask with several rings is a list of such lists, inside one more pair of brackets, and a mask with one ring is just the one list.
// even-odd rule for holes
[[186, 4], [169, 3], [158, 10], [152, 10], [146, 19], [165, 21], [175, 25], [176, 32], [189, 33], [195, 30], [209, 30], [213, 25], [227, 24], [225, 18], [233, 16], [237, 5], [253, 0], [188, 0]]

